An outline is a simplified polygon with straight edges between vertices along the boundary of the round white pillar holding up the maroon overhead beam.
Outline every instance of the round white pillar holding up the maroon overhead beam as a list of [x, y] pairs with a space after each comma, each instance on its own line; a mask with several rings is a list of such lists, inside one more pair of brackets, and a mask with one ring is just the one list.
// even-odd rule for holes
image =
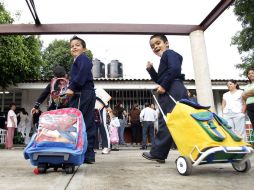
[[190, 43], [198, 102], [204, 106], [211, 106], [212, 111], [215, 111], [204, 32], [191, 32]]

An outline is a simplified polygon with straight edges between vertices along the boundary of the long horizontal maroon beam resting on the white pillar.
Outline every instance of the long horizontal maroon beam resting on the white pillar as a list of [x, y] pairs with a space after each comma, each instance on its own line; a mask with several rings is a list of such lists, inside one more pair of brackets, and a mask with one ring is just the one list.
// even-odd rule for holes
[[153, 34], [189, 35], [198, 25], [175, 24], [1, 24], [0, 34]]

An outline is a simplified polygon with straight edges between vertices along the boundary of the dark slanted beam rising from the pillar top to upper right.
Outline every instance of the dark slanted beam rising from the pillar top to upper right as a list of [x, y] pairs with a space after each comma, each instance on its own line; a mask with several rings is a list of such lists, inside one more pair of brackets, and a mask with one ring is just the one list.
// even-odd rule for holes
[[234, 0], [221, 0], [199, 26], [205, 31], [233, 2]]

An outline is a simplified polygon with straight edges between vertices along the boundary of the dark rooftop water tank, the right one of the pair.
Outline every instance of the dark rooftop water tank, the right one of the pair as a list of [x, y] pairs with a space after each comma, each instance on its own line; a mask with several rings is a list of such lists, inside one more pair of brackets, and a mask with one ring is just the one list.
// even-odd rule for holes
[[118, 60], [112, 60], [108, 64], [108, 78], [123, 78], [123, 64]]

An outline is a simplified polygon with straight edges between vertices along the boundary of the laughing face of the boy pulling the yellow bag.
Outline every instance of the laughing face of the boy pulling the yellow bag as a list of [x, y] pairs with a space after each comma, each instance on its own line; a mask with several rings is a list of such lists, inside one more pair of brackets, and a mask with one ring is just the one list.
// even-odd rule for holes
[[163, 52], [168, 49], [168, 42], [163, 42], [159, 37], [154, 37], [150, 40], [150, 47], [155, 55], [161, 57]]

